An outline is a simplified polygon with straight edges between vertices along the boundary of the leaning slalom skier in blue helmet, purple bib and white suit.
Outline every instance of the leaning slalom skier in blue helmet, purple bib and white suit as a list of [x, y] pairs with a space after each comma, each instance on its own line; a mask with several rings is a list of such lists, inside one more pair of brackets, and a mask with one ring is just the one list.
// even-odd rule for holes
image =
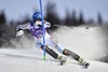
[[[51, 24], [46, 20], [43, 20], [43, 27], [41, 25], [41, 14], [39, 12], [33, 13], [32, 15], [32, 23], [27, 23], [25, 25], [18, 25], [17, 26], [17, 33], [16, 35], [22, 35], [24, 33], [23, 29], [30, 30], [31, 34], [35, 38], [35, 43], [38, 48], [43, 49], [43, 32], [42, 28], [45, 29], [44, 37], [45, 37], [45, 52], [51, 55], [53, 58], [58, 59], [62, 61], [60, 64], [64, 64], [66, 62], [66, 57], [59, 56], [57, 53], [53, 51], [53, 48], [57, 49], [63, 55], [69, 56], [72, 59], [77, 60], [81, 64], [87, 66], [86, 61], [84, 61], [79, 55], [75, 54], [73, 52], [64, 48], [57, 41], [53, 40], [53, 38], [46, 32], [46, 28], [51, 27]], [[51, 48], [53, 47], [53, 48]]]

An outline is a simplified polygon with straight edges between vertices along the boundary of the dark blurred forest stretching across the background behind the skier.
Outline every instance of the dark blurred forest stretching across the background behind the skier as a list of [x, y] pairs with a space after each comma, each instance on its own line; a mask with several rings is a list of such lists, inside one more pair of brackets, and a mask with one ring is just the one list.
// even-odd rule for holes
[[[59, 18], [59, 14], [57, 14], [56, 12], [56, 3], [53, 2], [48, 2], [45, 11], [46, 13], [44, 14], [45, 15], [44, 19], [51, 23], [52, 27], [50, 28], [50, 30], [52, 31], [57, 29], [59, 26], [69, 26], [69, 27], [78, 27], [82, 25], [103, 26], [108, 24], [103, 21], [104, 19], [99, 12], [97, 13], [97, 20], [94, 20], [93, 18], [85, 20], [83, 11], [77, 14], [76, 10], [71, 12], [66, 10], [66, 16], [64, 18]], [[28, 21], [32, 21], [32, 19], [27, 14], [25, 14], [25, 17], [22, 18], [22, 20], [6, 21], [5, 11], [4, 10], [0, 11], [0, 46], [5, 44], [8, 41], [10, 41], [10, 39], [12, 39], [13, 35], [15, 35], [17, 25], [25, 24]]]

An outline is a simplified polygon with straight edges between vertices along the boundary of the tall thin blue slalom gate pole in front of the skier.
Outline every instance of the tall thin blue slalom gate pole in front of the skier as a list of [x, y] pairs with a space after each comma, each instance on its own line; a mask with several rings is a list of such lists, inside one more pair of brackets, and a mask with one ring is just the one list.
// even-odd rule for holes
[[40, 12], [41, 12], [41, 25], [42, 25], [42, 32], [43, 32], [43, 60], [45, 61], [45, 35], [44, 35], [44, 32], [45, 32], [45, 29], [44, 29], [44, 25], [43, 25], [43, 11], [42, 11], [42, 2], [41, 0], [39, 0], [40, 2]]

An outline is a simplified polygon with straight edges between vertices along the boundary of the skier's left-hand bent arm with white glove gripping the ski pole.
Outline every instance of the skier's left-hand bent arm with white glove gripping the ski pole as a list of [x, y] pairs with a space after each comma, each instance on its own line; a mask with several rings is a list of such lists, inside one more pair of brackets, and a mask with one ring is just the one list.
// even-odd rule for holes
[[30, 29], [29, 23], [28, 23], [28, 24], [24, 24], [24, 25], [18, 25], [18, 26], [17, 26], [17, 28], [16, 28], [16, 30], [17, 30], [16, 37], [17, 37], [17, 35], [24, 34], [23, 29]]

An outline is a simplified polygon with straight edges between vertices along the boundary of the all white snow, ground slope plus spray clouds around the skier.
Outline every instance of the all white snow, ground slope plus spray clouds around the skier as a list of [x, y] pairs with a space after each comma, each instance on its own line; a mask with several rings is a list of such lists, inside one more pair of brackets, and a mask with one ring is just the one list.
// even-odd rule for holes
[[0, 72], [108, 72], [108, 63], [97, 61], [107, 56], [106, 35], [102, 27], [59, 27], [52, 33], [65, 48], [68, 48], [91, 63], [84, 69], [77, 61], [68, 58], [65, 66], [46, 55], [43, 61], [43, 52], [35, 47], [33, 39], [25, 35], [13, 41], [15, 49], [0, 49]]

